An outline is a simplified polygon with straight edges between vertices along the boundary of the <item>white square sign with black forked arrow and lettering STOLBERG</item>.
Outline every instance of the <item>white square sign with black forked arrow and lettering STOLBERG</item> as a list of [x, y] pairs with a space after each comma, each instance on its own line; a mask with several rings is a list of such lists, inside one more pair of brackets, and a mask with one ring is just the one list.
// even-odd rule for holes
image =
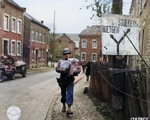
[[130, 15], [104, 14], [102, 16], [102, 54], [138, 55], [139, 31], [138, 18]]

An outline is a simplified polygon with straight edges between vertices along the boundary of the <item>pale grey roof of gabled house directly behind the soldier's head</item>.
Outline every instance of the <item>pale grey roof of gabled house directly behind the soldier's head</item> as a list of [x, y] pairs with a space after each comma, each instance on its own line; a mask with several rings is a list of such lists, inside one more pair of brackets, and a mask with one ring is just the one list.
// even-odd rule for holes
[[75, 43], [76, 48], [79, 48], [79, 41], [80, 41], [79, 34], [66, 34], [66, 33], [59, 34], [56, 36], [56, 40], [61, 38], [62, 36], [68, 37]]

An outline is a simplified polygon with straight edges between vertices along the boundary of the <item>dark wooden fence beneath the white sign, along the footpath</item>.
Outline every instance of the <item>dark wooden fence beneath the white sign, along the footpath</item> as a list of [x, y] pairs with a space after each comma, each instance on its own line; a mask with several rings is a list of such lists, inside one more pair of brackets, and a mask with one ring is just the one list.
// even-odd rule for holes
[[114, 112], [114, 120], [148, 116], [146, 79], [138, 70], [108, 69], [91, 63], [90, 91]]

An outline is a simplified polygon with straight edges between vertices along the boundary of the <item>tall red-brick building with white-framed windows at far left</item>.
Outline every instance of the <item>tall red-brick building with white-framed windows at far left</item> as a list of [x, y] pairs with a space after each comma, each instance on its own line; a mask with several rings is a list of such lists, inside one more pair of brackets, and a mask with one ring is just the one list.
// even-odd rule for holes
[[0, 55], [22, 59], [23, 12], [24, 9], [13, 0], [0, 4]]

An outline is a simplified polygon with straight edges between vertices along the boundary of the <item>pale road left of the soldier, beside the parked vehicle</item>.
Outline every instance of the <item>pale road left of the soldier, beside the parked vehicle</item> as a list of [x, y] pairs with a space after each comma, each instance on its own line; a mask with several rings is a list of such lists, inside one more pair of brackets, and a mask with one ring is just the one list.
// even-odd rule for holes
[[55, 94], [58, 94], [55, 70], [27, 74], [26, 78], [16, 75], [15, 80], [0, 83], [0, 120], [8, 120], [10, 106], [21, 109], [19, 120], [44, 120], [47, 109]]

